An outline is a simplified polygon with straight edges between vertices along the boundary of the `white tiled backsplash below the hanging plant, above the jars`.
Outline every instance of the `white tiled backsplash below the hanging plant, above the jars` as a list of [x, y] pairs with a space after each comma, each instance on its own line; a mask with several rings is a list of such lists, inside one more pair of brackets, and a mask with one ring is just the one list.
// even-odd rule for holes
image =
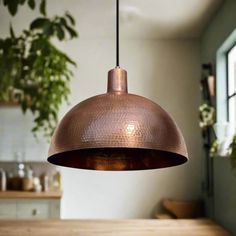
[[30, 112], [20, 107], [0, 107], [0, 161], [46, 161], [49, 144], [44, 137], [35, 139]]

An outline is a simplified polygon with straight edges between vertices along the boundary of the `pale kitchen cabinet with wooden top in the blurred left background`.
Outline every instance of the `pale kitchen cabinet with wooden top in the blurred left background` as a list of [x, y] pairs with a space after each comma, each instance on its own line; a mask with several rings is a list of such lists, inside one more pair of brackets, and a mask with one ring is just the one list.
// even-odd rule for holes
[[[16, 193], [15, 196], [13, 193]], [[0, 192], [0, 219], [59, 219], [60, 194]]]

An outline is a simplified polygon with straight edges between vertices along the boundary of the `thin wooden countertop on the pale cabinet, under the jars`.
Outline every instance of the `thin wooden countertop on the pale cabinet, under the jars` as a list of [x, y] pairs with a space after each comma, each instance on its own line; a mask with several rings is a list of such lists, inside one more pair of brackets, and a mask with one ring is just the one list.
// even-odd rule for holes
[[0, 199], [12, 199], [12, 198], [41, 199], [41, 198], [61, 198], [61, 196], [62, 193], [60, 191], [39, 192], [39, 193], [24, 192], [24, 191], [0, 191]]

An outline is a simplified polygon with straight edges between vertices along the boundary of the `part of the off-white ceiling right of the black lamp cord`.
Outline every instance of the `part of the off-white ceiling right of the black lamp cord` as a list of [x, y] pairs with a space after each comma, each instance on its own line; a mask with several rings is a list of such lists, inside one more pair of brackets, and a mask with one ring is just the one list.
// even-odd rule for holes
[[150, 38], [199, 37], [222, 0], [121, 0], [124, 32]]

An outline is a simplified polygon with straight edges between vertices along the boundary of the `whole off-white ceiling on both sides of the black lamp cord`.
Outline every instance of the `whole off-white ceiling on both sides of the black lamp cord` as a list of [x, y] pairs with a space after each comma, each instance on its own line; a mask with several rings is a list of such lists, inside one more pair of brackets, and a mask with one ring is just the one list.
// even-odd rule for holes
[[[223, 1], [120, 0], [121, 37], [198, 38]], [[67, 0], [56, 8], [77, 16], [82, 38], [114, 37], [115, 0]]]

